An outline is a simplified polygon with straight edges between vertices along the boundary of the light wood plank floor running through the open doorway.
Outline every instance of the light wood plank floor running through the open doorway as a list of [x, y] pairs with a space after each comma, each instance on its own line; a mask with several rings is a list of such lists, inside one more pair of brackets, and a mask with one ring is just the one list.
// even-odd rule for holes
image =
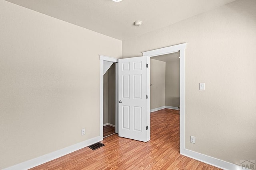
[[180, 155], [177, 110], [162, 109], [150, 117], [151, 140], [147, 143], [115, 134], [104, 138], [104, 147], [86, 147], [32, 170], [220, 170]]

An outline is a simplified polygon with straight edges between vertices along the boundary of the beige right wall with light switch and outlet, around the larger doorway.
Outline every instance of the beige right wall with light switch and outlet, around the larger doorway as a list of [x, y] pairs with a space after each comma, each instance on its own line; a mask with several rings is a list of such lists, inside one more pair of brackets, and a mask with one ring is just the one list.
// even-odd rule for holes
[[122, 42], [122, 57], [188, 43], [185, 147], [234, 164], [256, 160], [255, 9], [238, 0]]

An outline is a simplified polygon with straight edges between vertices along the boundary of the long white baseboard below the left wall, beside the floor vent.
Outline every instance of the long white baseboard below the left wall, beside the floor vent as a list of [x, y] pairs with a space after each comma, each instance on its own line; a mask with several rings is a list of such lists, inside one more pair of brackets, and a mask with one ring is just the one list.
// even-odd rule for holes
[[84, 147], [88, 147], [89, 145], [92, 145], [92, 144], [97, 143], [102, 140], [103, 139], [100, 136], [92, 138], [92, 139], [88, 139], [86, 141], [71, 145], [69, 147], [66, 147], [66, 148], [63, 148], [60, 150], [56, 150], [54, 152], [51, 152], [51, 153], [45, 154], [43, 156], [39, 156], [37, 158], [22, 162], [20, 164], [10, 166], [8, 168], [5, 168], [4, 170], [27, 170], [27, 169], [33, 168], [35, 166], [49, 162], [51, 160], [54, 160], [56, 158], [59, 158], [61, 156], [64, 156], [66, 154], [69, 154], [71, 152], [74, 152], [76, 150], [82, 149]]

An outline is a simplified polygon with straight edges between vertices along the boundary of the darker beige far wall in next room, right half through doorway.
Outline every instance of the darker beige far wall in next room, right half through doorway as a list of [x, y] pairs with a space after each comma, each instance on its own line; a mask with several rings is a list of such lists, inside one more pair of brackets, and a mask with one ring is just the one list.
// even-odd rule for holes
[[180, 105], [180, 61], [166, 61], [165, 69], [165, 106]]

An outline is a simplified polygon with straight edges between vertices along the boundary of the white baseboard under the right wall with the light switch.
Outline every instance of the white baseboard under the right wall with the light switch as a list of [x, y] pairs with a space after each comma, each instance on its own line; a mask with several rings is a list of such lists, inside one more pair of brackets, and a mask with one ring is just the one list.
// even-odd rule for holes
[[199, 160], [201, 162], [204, 162], [206, 164], [210, 164], [212, 166], [216, 166], [218, 168], [224, 169], [224, 170], [244, 170], [246, 168], [242, 168], [242, 166], [232, 164], [230, 162], [226, 162], [224, 160], [220, 160], [217, 158], [213, 158], [211, 156], [207, 156], [198, 152], [194, 152], [192, 150], [188, 149], [182, 149], [180, 150], [180, 154], [184, 156], [188, 156], [190, 158], [193, 158], [195, 160]]

